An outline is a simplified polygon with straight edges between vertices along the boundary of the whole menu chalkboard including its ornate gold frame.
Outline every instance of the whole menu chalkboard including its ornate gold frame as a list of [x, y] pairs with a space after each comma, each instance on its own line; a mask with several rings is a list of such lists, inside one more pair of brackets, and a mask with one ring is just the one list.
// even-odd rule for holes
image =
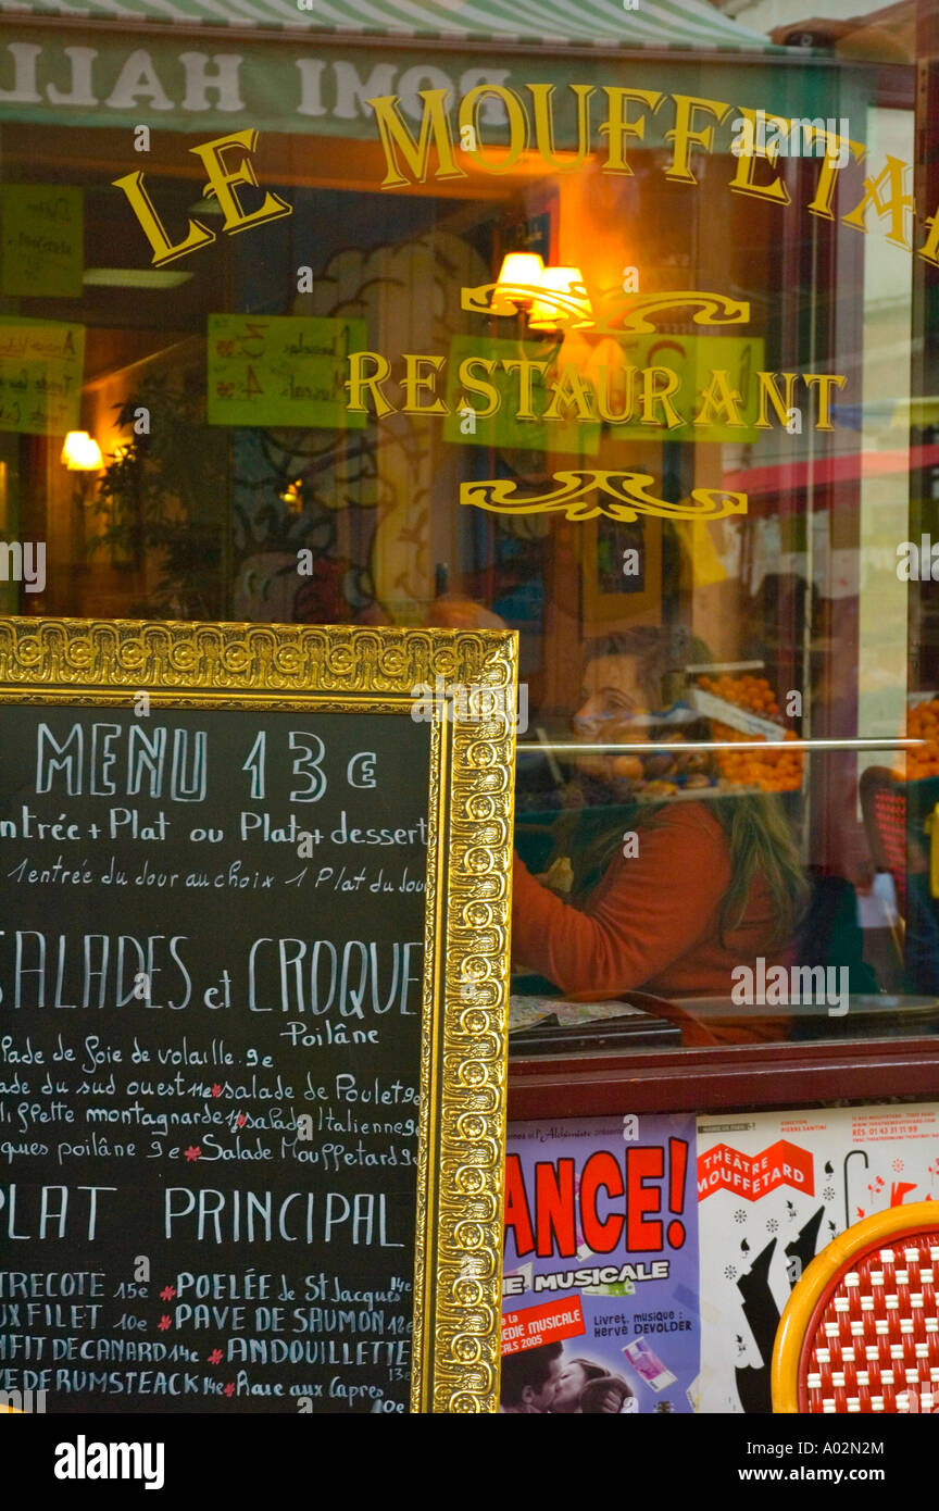
[[0, 1390], [495, 1410], [515, 654], [0, 623]]

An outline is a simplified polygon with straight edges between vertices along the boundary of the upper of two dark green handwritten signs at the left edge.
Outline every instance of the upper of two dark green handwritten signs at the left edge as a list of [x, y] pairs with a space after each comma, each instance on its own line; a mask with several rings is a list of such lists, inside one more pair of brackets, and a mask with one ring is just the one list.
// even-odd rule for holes
[[0, 293], [82, 296], [85, 199], [60, 184], [0, 187]]

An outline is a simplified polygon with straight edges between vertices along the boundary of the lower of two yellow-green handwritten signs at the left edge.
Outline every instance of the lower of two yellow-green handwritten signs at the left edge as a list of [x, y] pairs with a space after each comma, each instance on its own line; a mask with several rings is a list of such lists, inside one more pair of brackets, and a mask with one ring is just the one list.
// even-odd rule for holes
[[79, 429], [85, 326], [0, 316], [0, 431]]

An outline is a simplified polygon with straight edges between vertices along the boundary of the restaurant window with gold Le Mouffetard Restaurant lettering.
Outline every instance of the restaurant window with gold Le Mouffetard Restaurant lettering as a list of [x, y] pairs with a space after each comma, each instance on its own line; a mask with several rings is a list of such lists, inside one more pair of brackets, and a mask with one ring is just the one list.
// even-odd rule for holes
[[512, 9], [3, 17], [3, 610], [507, 626], [516, 1024], [907, 1032], [934, 6]]

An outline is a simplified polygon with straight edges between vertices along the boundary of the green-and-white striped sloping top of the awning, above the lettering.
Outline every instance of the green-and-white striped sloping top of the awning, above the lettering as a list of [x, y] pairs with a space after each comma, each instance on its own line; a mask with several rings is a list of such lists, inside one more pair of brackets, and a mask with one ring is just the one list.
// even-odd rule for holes
[[107, 20], [151, 26], [257, 27], [340, 36], [447, 38], [575, 44], [602, 48], [681, 48], [782, 53], [705, 0], [85, 0], [69, 5], [0, 3], [0, 15]]

